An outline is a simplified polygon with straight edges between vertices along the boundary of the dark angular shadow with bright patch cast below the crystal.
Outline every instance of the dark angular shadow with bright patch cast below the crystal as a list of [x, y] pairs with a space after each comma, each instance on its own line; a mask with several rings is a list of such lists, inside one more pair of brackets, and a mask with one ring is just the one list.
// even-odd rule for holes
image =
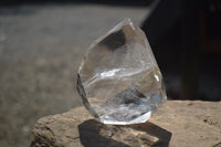
[[171, 133], [151, 123], [105, 125], [88, 119], [78, 125], [80, 140], [85, 147], [168, 147]]

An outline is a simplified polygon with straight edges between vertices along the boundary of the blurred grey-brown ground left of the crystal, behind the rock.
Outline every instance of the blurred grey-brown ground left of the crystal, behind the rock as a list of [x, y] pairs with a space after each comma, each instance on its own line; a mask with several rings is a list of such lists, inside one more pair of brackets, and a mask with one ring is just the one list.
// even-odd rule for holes
[[81, 105], [76, 72], [93, 40], [148, 8], [45, 4], [0, 8], [0, 147], [30, 145], [36, 119]]

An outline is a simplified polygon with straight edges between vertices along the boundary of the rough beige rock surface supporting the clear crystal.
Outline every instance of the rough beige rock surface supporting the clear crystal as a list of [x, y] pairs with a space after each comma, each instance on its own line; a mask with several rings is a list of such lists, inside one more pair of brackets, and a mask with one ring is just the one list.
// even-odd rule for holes
[[84, 107], [40, 118], [31, 147], [221, 147], [221, 102], [169, 101], [147, 123], [104, 125]]

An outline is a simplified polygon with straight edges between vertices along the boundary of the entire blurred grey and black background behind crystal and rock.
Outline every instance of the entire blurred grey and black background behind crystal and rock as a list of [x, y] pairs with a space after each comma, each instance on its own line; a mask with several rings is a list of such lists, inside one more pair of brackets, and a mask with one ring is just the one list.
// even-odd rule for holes
[[31, 141], [38, 118], [81, 105], [88, 45], [125, 18], [139, 25], [170, 99], [221, 101], [220, 0], [0, 2], [0, 147]]

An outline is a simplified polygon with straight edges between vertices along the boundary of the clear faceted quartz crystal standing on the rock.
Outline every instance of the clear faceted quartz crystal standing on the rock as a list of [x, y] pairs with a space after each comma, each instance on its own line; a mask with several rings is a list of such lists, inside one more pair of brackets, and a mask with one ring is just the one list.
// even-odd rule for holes
[[130, 19], [92, 43], [76, 87], [90, 114], [104, 124], [145, 123], [167, 99], [147, 38]]

